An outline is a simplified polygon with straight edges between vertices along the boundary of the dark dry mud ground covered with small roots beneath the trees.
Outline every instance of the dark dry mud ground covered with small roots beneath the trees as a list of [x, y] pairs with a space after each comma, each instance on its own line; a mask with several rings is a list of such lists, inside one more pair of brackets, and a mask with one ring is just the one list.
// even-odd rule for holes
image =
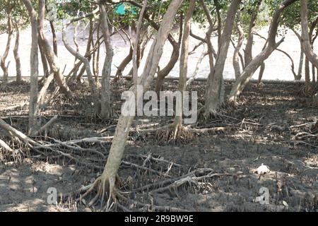
[[[114, 113], [119, 113], [120, 93], [126, 90], [126, 83], [129, 82], [112, 86]], [[177, 87], [177, 83], [171, 81], [165, 85], [166, 89], [167, 86]], [[227, 84], [227, 92], [229, 88], [230, 84]], [[204, 83], [194, 82], [192, 90], [198, 91], [199, 102], [204, 104]], [[13, 107], [28, 101], [28, 91], [26, 83], [11, 83], [6, 91], [0, 93], [1, 118], [23, 132], [28, 125], [28, 107]], [[88, 88], [75, 92], [78, 95], [73, 100], [55, 97], [50, 105], [42, 109], [43, 123], [55, 114], [59, 114], [60, 118], [46, 138], [34, 139], [53, 143], [49, 137], [69, 141], [112, 136], [116, 115], [108, 121], [94, 117]], [[223, 126], [224, 131], [193, 134], [192, 141], [177, 143], [160, 143], [155, 133], [132, 132], [119, 169], [119, 189], [127, 192], [125, 195], [129, 201], [121, 204], [126, 209], [139, 211], [158, 210], [158, 206], [161, 210], [167, 207], [166, 210], [192, 211], [317, 211], [318, 141], [295, 142], [292, 139], [296, 133], [309, 132], [310, 128], [290, 129], [290, 126], [312, 122], [315, 118], [317, 120], [318, 110], [303, 95], [302, 84], [266, 83], [261, 88], [251, 84], [242, 94], [239, 105], [225, 107], [219, 117], [199, 119], [196, 124], [196, 128]], [[151, 123], [157, 123], [158, 127], [167, 125], [171, 120], [172, 117], [139, 117], [134, 127]], [[273, 125], [285, 129], [276, 131]], [[85, 165], [56, 153], [39, 155], [8, 138], [4, 131], [0, 131], [0, 138], [22, 150], [13, 159], [0, 149], [0, 211], [103, 210], [100, 206], [86, 207], [93, 194], [77, 204], [73, 198], [77, 197], [76, 191], [82, 185], [90, 184], [102, 172], [110, 143], [81, 143], [81, 147], [93, 148], [105, 156], [96, 157], [94, 153], [81, 153], [79, 150], [71, 152], [71, 155], [81, 156], [81, 160], [90, 159], [91, 164]], [[150, 154], [152, 157], [147, 159]], [[255, 170], [262, 163], [271, 171], [259, 177]], [[169, 186], [177, 177], [199, 168], [208, 171], [192, 175], [180, 186], [170, 186], [163, 191], [155, 191], [158, 187], [151, 187], [148, 191], [140, 189], [147, 184], [171, 179], [165, 184]], [[199, 180], [194, 178], [204, 175], [208, 176]], [[63, 197], [59, 198], [57, 206], [47, 204], [49, 187], [56, 188], [59, 197]], [[269, 205], [253, 202], [261, 187], [269, 189]], [[140, 206], [136, 201], [149, 205]], [[112, 211], [123, 209], [120, 206], [110, 208]]]

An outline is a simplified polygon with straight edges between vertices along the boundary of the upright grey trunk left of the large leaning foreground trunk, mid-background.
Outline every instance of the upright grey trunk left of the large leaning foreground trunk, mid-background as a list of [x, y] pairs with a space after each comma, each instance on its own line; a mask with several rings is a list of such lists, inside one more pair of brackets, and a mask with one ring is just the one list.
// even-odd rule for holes
[[103, 4], [100, 4], [99, 7], [102, 35], [104, 36], [106, 47], [106, 57], [102, 68], [102, 109], [100, 116], [104, 119], [108, 119], [112, 112], [110, 100], [110, 73], [112, 71], [112, 57], [114, 56], [114, 51], [112, 49], [112, 42], [110, 42], [110, 28], [107, 21], [108, 15], [106, 8]]

